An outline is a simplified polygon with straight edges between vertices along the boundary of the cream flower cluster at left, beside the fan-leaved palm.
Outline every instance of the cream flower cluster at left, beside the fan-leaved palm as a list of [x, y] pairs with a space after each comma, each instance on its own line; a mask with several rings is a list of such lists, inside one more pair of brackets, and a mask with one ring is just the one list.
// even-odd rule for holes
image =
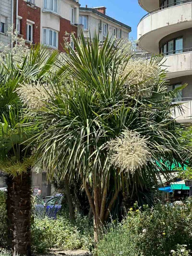
[[17, 93], [29, 109], [40, 109], [45, 106], [50, 95], [53, 94], [47, 84], [40, 84], [39, 82], [21, 84]]

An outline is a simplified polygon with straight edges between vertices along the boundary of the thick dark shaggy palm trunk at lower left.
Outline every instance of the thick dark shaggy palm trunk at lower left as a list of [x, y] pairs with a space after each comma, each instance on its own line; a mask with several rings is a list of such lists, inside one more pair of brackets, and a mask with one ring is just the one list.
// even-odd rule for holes
[[31, 256], [31, 169], [7, 179], [9, 244], [13, 255]]

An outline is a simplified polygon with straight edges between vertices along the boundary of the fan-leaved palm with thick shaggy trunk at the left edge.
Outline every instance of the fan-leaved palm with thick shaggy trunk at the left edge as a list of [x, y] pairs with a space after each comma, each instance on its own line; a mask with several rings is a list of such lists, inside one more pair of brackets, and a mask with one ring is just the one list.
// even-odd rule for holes
[[45, 80], [56, 61], [40, 45], [14, 60], [5, 54], [0, 65], [0, 169], [7, 174], [9, 248], [14, 255], [31, 255], [31, 168], [34, 145], [27, 147], [38, 127], [26, 124], [26, 107], [17, 90], [23, 84]]

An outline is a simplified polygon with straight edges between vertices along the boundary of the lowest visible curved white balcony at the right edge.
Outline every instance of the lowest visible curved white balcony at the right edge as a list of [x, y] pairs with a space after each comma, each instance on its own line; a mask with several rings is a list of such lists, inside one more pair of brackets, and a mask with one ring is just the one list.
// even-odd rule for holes
[[[172, 112], [172, 117], [179, 123], [191, 123], [192, 122], [192, 99], [182, 98], [182, 111], [180, 108], [175, 107]], [[177, 102], [178, 103], [178, 102]], [[173, 103], [174, 105], [174, 103]]]

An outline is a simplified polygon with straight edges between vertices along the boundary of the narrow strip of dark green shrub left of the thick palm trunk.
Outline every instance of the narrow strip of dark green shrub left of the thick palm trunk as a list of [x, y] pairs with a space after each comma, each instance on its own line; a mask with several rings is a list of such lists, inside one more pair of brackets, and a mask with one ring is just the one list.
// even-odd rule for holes
[[[7, 243], [7, 215], [6, 215], [6, 193], [0, 190], [0, 247], [5, 246]], [[0, 251], [1, 255], [1, 251]]]

